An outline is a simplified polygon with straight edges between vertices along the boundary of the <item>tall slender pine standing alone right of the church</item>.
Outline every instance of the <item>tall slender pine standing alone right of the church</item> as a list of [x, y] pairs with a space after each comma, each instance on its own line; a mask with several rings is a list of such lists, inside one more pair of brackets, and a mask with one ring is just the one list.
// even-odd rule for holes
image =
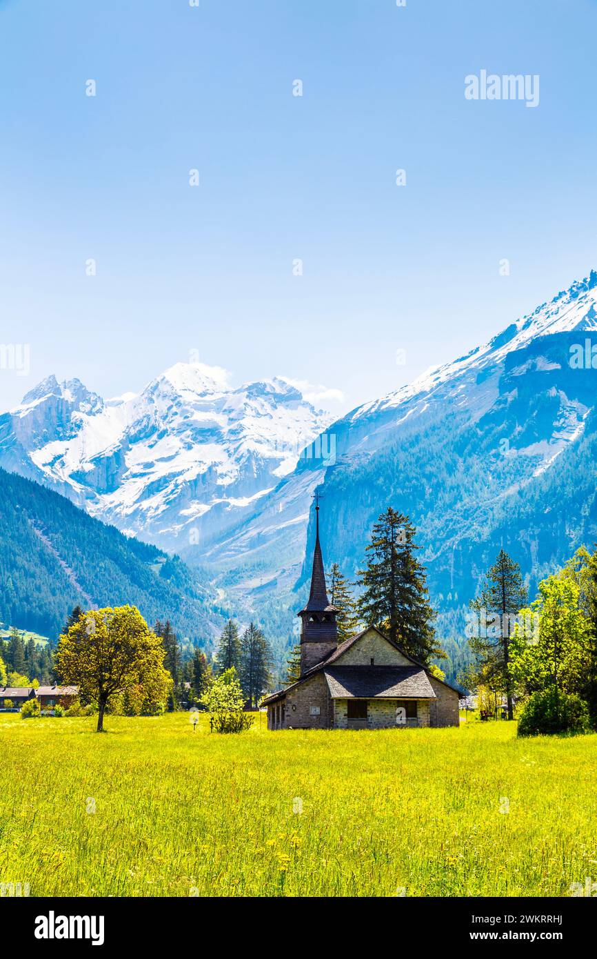
[[469, 669], [469, 677], [471, 685], [479, 681], [505, 694], [509, 719], [514, 719], [514, 688], [508, 668], [510, 643], [516, 617], [525, 603], [520, 567], [507, 552], [499, 550], [479, 595], [469, 604], [476, 624], [469, 640], [476, 662]]

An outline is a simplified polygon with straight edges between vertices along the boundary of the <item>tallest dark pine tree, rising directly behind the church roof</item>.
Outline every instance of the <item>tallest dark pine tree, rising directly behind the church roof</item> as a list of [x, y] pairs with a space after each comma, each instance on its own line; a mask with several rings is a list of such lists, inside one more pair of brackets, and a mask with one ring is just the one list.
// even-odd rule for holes
[[391, 506], [374, 525], [366, 569], [358, 573], [363, 592], [360, 619], [387, 633], [408, 656], [424, 666], [444, 652], [435, 640], [435, 612], [429, 605], [425, 567], [414, 550], [415, 527]]

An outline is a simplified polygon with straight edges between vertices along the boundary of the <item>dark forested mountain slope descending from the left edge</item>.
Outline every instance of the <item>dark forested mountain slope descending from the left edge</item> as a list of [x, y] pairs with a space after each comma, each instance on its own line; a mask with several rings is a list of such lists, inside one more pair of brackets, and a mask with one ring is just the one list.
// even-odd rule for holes
[[56, 640], [76, 604], [175, 610], [191, 643], [212, 635], [213, 597], [176, 556], [104, 526], [64, 497], [0, 470], [0, 620]]

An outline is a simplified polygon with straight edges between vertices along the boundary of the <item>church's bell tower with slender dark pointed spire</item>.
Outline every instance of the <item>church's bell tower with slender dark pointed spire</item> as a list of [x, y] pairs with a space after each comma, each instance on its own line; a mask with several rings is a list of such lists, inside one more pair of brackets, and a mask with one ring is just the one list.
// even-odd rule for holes
[[315, 493], [315, 550], [310, 577], [310, 596], [301, 618], [301, 676], [333, 653], [338, 644], [337, 609], [328, 599], [326, 575], [319, 543], [319, 495]]

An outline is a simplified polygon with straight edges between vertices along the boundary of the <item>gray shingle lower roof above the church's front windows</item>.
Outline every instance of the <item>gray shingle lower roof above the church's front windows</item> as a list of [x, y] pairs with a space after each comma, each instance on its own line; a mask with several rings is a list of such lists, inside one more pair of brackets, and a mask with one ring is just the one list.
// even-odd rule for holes
[[333, 699], [435, 699], [423, 667], [335, 666], [324, 668]]

